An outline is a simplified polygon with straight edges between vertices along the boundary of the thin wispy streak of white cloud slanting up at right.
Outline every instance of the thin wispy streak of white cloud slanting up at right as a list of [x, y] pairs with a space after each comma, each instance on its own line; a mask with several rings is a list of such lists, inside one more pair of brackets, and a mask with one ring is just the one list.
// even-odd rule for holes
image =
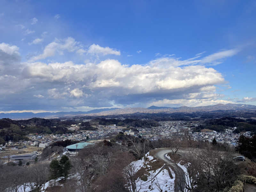
[[216, 52], [216, 53], [213, 53], [211, 55], [204, 57], [201, 60], [201, 63], [203, 63], [203, 64], [204, 63], [220, 64], [220, 63], [222, 63], [221, 59], [234, 56], [239, 51], [240, 51], [239, 49], [229, 49], [229, 50], [225, 50], [225, 51]]

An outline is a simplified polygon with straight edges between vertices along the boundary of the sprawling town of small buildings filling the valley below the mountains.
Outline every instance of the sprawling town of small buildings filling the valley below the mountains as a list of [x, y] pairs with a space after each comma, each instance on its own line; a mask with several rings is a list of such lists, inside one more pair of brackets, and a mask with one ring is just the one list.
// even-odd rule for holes
[[[240, 133], [233, 133], [236, 127], [225, 129], [224, 132], [216, 132], [212, 130], [202, 130], [201, 132], [193, 132], [193, 128], [200, 124], [200, 122], [187, 121], [160, 121], [160, 126], [157, 127], [129, 127], [112, 125], [94, 125], [98, 130], [80, 130], [79, 124], [72, 124], [68, 130], [73, 133], [63, 134], [29, 134], [28, 141], [8, 141], [5, 145], [0, 145], [0, 150], [16, 150], [28, 148], [33, 146], [35, 151], [40, 151], [52, 142], [61, 140], [76, 140], [97, 143], [101, 140], [109, 140], [111, 136], [123, 132], [124, 134], [134, 135], [137, 137], [146, 138], [149, 140], [159, 140], [163, 138], [171, 139], [173, 136], [182, 136], [187, 132], [190, 134], [192, 140], [212, 142], [215, 138], [219, 143], [227, 143], [228, 145], [237, 145], [237, 140]], [[243, 133], [246, 137], [250, 137], [251, 132]], [[18, 147], [19, 146], [19, 147]]]

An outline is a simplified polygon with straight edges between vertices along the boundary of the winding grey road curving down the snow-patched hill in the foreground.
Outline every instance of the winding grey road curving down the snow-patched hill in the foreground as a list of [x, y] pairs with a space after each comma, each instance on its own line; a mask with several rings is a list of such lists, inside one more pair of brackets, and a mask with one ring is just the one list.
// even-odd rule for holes
[[173, 171], [175, 173], [175, 181], [176, 181], [174, 184], [175, 192], [185, 191], [185, 181], [186, 181], [185, 173], [176, 163], [173, 163], [170, 159], [165, 157], [165, 154], [170, 152], [172, 151], [169, 149], [159, 149], [159, 151], [156, 153], [156, 156], [172, 166]]

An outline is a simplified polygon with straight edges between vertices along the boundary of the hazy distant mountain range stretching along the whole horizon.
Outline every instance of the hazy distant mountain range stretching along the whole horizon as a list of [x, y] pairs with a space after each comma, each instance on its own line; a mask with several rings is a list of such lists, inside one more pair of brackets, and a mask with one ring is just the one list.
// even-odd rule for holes
[[103, 108], [94, 109], [91, 111], [76, 111], [76, 112], [44, 112], [44, 113], [0, 113], [0, 118], [10, 118], [10, 119], [28, 119], [33, 117], [39, 118], [58, 118], [64, 116], [107, 116], [107, 115], [121, 115], [121, 114], [133, 114], [133, 113], [193, 113], [196, 111], [217, 111], [217, 110], [244, 110], [244, 111], [256, 111], [255, 105], [245, 105], [245, 104], [217, 104], [209, 106], [200, 107], [187, 107], [181, 106], [178, 108], [170, 107], [157, 107], [150, 106], [148, 108]]

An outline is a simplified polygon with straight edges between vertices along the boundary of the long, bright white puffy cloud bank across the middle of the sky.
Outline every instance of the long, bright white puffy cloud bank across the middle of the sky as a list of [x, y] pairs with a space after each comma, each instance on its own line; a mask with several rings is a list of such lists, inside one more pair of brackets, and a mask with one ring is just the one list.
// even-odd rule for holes
[[[181, 63], [183, 61], [180, 61]], [[23, 71], [26, 78], [40, 82], [74, 83], [89, 90], [105, 90], [102, 96], [130, 95], [166, 92], [200, 92], [215, 90], [215, 84], [224, 83], [224, 78], [213, 68], [185, 66], [183, 68], [155, 65], [121, 65], [117, 60], [104, 60], [98, 64], [77, 65], [66, 63], [34, 63]], [[72, 83], [72, 84], [73, 84]], [[196, 90], [191, 90], [196, 89]], [[111, 93], [109, 93], [111, 92]], [[87, 93], [88, 94], [88, 93]], [[185, 97], [185, 96], [184, 96]]]

